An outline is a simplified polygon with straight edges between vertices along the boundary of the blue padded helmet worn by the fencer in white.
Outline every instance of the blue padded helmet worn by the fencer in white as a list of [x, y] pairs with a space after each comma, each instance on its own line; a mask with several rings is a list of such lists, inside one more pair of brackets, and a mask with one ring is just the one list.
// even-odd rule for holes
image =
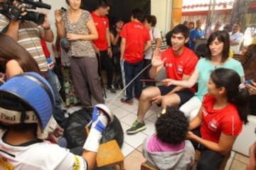
[[43, 132], [54, 122], [54, 103], [53, 89], [46, 79], [35, 72], [18, 74], [0, 86], [0, 123], [36, 123], [37, 136], [43, 139]]

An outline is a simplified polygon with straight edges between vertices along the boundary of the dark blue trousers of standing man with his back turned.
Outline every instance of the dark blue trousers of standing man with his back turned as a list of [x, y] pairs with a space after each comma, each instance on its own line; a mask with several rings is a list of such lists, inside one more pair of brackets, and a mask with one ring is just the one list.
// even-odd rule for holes
[[[139, 72], [142, 71], [143, 64], [144, 64], [143, 60], [142, 62], [136, 62], [136, 63], [129, 63], [124, 61], [125, 85], [129, 84], [132, 81], [132, 79], [134, 79], [134, 77], [136, 77], [139, 74]], [[133, 85], [134, 85], [135, 97], [139, 98], [139, 96], [142, 94], [142, 81], [140, 81], [140, 79], [142, 79], [142, 73], [139, 74], [139, 76], [134, 80], [134, 82], [132, 82], [132, 84], [127, 86], [127, 89], [126, 89], [127, 100], [130, 100], [133, 98], [133, 95], [132, 95]]]

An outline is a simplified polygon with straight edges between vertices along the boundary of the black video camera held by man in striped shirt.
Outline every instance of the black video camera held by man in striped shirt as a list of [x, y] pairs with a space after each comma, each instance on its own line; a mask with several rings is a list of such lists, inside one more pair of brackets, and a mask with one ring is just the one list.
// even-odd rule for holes
[[[36, 8], [47, 8], [50, 9], [51, 6], [44, 4], [42, 0], [33, 1], [33, 0], [16, 0], [18, 5], [14, 6], [14, 0], [7, 0], [6, 2], [0, 2], [0, 13], [4, 16], [10, 18], [11, 20], [26, 20], [33, 21], [38, 25], [44, 22], [44, 14], [38, 13], [35, 11], [28, 11], [27, 9], [36, 9]], [[22, 15], [21, 13], [25, 13]]]

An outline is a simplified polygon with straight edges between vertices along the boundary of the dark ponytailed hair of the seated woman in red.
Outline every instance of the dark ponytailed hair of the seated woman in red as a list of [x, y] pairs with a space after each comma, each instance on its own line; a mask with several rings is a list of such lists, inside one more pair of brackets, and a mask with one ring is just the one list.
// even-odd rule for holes
[[228, 103], [233, 103], [238, 108], [240, 119], [246, 124], [248, 122], [247, 115], [250, 114], [249, 109], [249, 92], [243, 84], [237, 72], [233, 69], [215, 69], [210, 74], [217, 88], [224, 87], [228, 97]]

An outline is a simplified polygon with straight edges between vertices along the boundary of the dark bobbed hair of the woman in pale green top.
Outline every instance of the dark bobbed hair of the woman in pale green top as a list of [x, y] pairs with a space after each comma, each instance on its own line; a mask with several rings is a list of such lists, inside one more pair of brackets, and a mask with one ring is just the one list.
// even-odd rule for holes
[[206, 59], [211, 60], [211, 52], [210, 52], [210, 43], [213, 42], [217, 38], [218, 41], [223, 42], [223, 52], [221, 57], [221, 62], [225, 62], [225, 60], [229, 57], [229, 50], [230, 50], [230, 38], [228, 32], [225, 30], [216, 30], [213, 32], [210, 37], [208, 38], [207, 45], [206, 45]]

